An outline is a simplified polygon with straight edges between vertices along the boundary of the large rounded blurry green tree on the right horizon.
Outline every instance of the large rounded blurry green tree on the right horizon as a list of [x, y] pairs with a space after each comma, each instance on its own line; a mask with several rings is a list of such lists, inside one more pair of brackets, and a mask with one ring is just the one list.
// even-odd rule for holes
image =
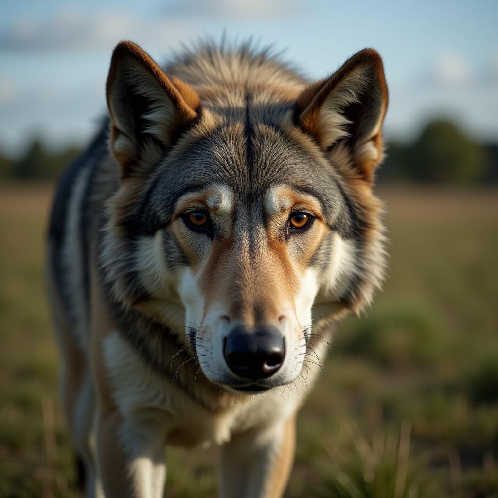
[[414, 180], [438, 183], [479, 181], [488, 164], [485, 148], [444, 120], [427, 124], [404, 160]]

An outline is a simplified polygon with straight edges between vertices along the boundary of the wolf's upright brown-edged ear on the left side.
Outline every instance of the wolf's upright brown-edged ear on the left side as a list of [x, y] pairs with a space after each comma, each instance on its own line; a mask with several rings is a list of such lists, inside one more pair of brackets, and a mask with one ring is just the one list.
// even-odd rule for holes
[[199, 97], [187, 83], [170, 80], [129, 41], [114, 49], [106, 96], [111, 150], [123, 177], [158, 160], [175, 135], [197, 118], [199, 108]]

